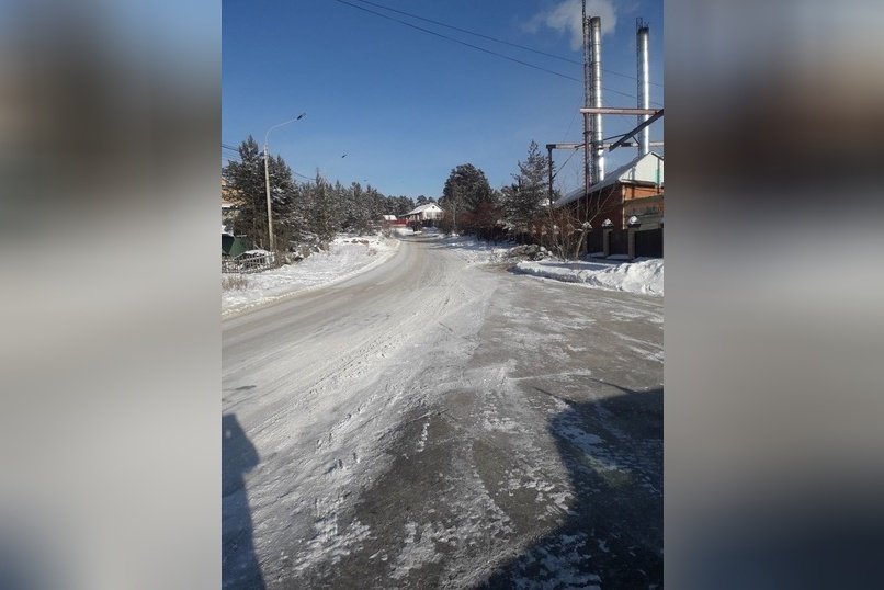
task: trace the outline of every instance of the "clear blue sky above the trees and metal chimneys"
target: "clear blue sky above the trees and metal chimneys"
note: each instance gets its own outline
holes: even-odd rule
[[[531,140],[580,141],[582,68],[385,11],[389,7],[571,60],[582,49],[569,26],[579,0],[345,0],[423,29],[546,68],[578,81],[465,47],[336,0],[224,0],[222,140],[238,146],[270,134],[270,151],[293,170],[330,181],[369,183],[387,195],[438,197],[451,169],[471,162],[500,188]],[[602,16],[605,106],[634,106],[635,19],[650,25],[651,102],[662,105],[660,0],[588,0]],[[612,22],[614,21],[614,22]],[[613,26],[612,26],[613,25]],[[654,105],[654,104],[653,104]],[[635,117],[605,116],[605,137]],[[651,127],[662,139],[662,122]],[[227,154],[225,150],[224,154]],[[345,158],[341,156],[347,155]],[[635,148],[608,156],[611,170]],[[556,151],[564,164],[571,151]],[[581,184],[581,152],[557,186]],[[303,179],[302,179],[303,180]]]

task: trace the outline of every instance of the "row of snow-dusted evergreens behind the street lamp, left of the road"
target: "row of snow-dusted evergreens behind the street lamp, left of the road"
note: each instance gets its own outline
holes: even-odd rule
[[[237,208],[231,230],[265,246],[269,240],[263,152],[251,136],[238,149],[239,160],[231,160],[222,169],[227,198]],[[331,184],[318,172],[313,181],[297,182],[280,156],[268,159],[268,173],[273,232],[281,249],[327,241],[339,231],[366,232],[377,226],[382,215],[403,215],[416,206],[410,197],[386,196],[359,182],[349,186],[340,182]],[[423,204],[431,200],[421,195],[417,201]]]

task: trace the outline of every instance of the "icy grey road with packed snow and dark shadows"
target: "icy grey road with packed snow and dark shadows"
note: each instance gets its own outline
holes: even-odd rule
[[[662,329],[417,237],[226,319],[224,587],[661,585]]]

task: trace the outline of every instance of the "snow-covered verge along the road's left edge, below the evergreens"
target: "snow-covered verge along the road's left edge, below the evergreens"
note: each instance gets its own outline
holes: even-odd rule
[[[295,264],[250,274],[223,274],[225,281],[240,281],[240,288],[222,291],[222,316],[317,288],[367,271],[389,259],[399,240],[382,236],[339,236],[327,251],[314,253]],[[245,283],[245,284],[242,284]]]

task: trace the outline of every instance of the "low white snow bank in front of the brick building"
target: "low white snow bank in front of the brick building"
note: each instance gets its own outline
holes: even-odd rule
[[[659,258],[621,264],[610,262],[540,261],[520,262],[515,265],[515,270],[534,276],[544,276],[568,283],[581,283],[598,288],[662,296],[662,259]]]

